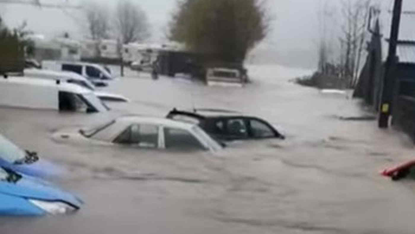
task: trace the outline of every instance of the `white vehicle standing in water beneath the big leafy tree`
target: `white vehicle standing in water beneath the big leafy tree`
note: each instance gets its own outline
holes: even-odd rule
[[[244,79],[239,70],[220,67],[207,69],[206,82],[208,86],[242,87],[244,85]]]

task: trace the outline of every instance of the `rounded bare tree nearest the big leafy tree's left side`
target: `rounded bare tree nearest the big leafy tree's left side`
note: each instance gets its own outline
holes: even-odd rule
[[[150,36],[146,13],[132,0],[118,2],[115,18],[123,44],[143,41]]]

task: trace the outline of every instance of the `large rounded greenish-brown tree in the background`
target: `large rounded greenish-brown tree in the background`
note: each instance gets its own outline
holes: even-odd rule
[[[266,36],[269,18],[260,0],[183,0],[173,14],[169,37],[217,62],[241,63]]]

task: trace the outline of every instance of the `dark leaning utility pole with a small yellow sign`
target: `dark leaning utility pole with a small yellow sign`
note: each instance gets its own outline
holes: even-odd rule
[[[389,116],[391,116],[391,106],[395,85],[395,67],[397,62],[396,45],[398,44],[400,14],[402,12],[402,0],[395,0],[393,5],[391,35],[389,37],[389,52],[385,64],[385,74],[383,77],[383,88],[381,106],[379,111],[379,128],[388,128]]]

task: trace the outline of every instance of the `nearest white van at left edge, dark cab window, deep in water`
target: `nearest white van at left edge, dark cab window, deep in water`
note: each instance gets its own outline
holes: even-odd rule
[[[109,110],[92,91],[81,86],[13,76],[0,77],[0,105],[86,113]]]

